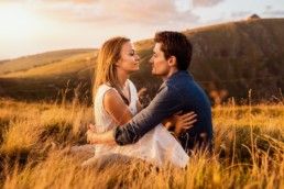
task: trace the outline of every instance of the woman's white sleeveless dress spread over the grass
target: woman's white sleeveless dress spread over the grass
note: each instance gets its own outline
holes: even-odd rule
[[[129,110],[134,115],[136,114],[136,88],[130,80],[128,82],[131,96]],[[116,126],[114,120],[103,108],[103,96],[108,90],[116,89],[101,85],[95,98],[95,120],[98,133],[107,132]],[[95,158],[109,154],[136,157],[159,165],[170,162],[179,167],[185,167],[189,159],[181,144],[162,124],[156,125],[134,144],[95,145]]]

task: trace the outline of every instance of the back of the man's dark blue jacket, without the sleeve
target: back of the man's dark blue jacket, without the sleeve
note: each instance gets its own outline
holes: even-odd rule
[[[187,71],[178,71],[166,80],[166,86],[176,88],[176,98],[182,104],[183,113],[194,111],[197,122],[178,136],[185,149],[193,149],[195,144],[210,143],[212,138],[211,108],[204,90],[194,81]]]

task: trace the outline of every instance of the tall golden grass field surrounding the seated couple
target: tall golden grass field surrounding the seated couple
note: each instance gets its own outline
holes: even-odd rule
[[[0,100],[0,188],[283,188],[284,107],[233,103],[212,109],[214,155],[187,169],[143,162],[81,167],[92,108]]]

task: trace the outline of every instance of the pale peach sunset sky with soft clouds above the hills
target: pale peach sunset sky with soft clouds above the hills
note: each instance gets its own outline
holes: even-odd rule
[[[284,0],[0,0],[0,60],[99,48],[117,35],[136,42],[253,13],[284,18]]]

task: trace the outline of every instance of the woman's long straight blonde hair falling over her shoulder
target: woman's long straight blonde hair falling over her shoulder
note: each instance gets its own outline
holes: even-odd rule
[[[95,103],[95,97],[100,85],[106,84],[117,89],[122,100],[129,104],[127,97],[122,93],[119,87],[119,80],[116,73],[116,63],[121,57],[121,48],[125,42],[130,42],[130,38],[117,36],[108,40],[103,43],[99,51],[97,68],[95,74],[95,84],[92,88],[92,100]]]

